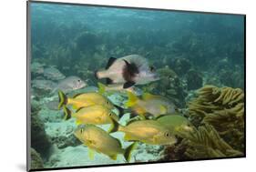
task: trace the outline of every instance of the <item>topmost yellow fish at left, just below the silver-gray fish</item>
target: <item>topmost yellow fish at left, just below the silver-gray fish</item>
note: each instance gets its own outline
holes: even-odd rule
[[[58,108],[62,106],[71,105],[74,109],[78,109],[84,106],[102,105],[110,109],[114,108],[113,104],[107,97],[100,95],[99,93],[83,93],[76,96],[67,97],[62,91],[58,91],[59,104]]]

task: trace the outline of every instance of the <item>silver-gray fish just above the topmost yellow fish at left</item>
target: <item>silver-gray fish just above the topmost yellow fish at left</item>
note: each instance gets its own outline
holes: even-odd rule
[[[65,79],[58,82],[54,91],[60,89],[64,93],[67,93],[69,91],[77,90],[85,86],[87,86],[87,83],[83,81],[80,77],[68,76]]]

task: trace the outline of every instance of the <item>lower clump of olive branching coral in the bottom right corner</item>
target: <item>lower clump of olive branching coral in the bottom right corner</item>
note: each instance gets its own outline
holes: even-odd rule
[[[225,142],[213,126],[199,126],[193,132],[181,133],[186,145],[185,155],[189,158],[239,157],[243,153],[233,149]]]

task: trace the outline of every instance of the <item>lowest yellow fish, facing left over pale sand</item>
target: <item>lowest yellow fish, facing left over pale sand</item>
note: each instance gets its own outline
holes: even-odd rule
[[[118,154],[129,162],[132,151],[136,148],[136,142],[127,148],[122,148],[120,141],[110,136],[105,130],[94,125],[78,126],[75,136],[89,148],[89,157],[93,158],[93,150],[107,155],[116,160]]]

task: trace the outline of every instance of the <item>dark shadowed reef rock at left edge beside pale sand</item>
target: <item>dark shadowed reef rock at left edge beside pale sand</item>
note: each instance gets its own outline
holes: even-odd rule
[[[38,116],[39,111],[40,106],[33,100],[31,107],[31,147],[35,148],[41,156],[47,157],[51,142],[46,135],[45,124]]]

